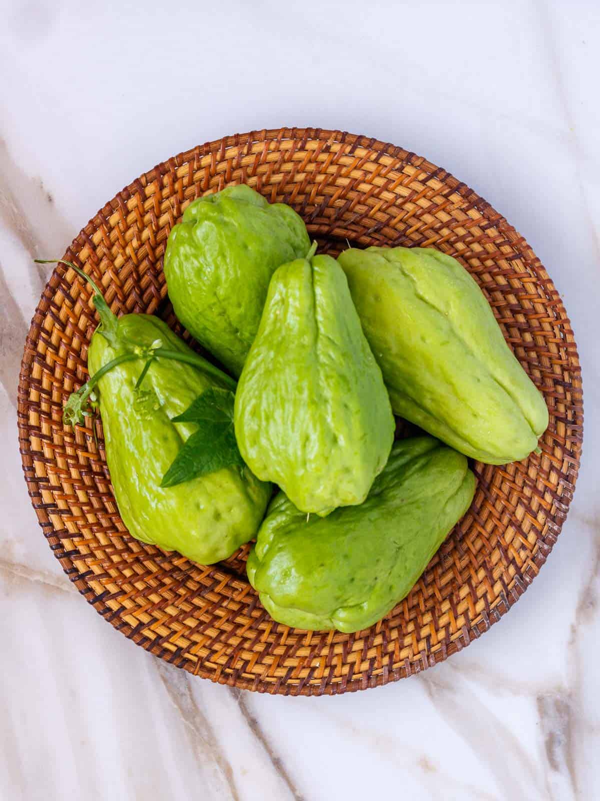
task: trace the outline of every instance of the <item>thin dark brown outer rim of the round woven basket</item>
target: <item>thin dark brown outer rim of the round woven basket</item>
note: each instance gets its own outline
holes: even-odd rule
[[[446,171],[441,167],[437,167],[434,163],[430,162],[428,159],[425,159],[422,156],[414,154],[412,151],[406,151],[402,147],[397,147],[391,143],[382,142],[379,139],[375,139],[373,137],[367,137],[365,135],[358,135],[358,134],[350,134],[347,131],[337,131],[333,129],[326,129],[326,128],[311,128],[311,127],[281,127],[281,128],[268,128],[256,131],[248,131],[244,134],[234,134],[229,136],[224,136],[221,139],[214,139],[213,141],[207,142],[203,145],[198,145],[196,147],[190,148],[189,150],[182,151],[178,153],[178,155],[171,156],[169,159],[166,159],[163,162],[156,164],[152,167],[149,171],[142,173],[142,175],[138,176],[137,179],[132,181],[126,187],[124,187],[121,191],[119,191],[113,199],[105,203],[105,205],[98,210],[98,212],[90,218],[88,223],[84,227],[82,227],[81,231],[78,233],[77,236],[74,237],[70,246],[66,249],[66,252],[63,259],[69,259],[70,254],[78,254],[81,250],[86,247],[86,239],[90,235],[92,231],[95,231],[98,227],[98,223],[102,219],[103,216],[106,214],[113,214],[114,211],[117,210],[118,207],[122,207],[123,203],[126,203],[127,199],[134,193],[134,191],[138,191],[140,185],[144,186],[155,179],[161,178],[167,172],[171,171],[173,167],[179,167],[184,163],[190,162],[192,159],[198,159],[198,157],[203,157],[206,155],[212,155],[214,159],[222,159],[225,155],[226,148],[228,147],[240,147],[245,144],[256,144],[264,141],[279,141],[282,140],[299,140],[298,147],[306,147],[306,143],[317,140],[318,142],[324,143],[324,146],[327,147],[329,143],[350,143],[352,145],[352,151],[355,148],[361,147],[367,150],[378,151],[378,159],[381,158],[383,155],[390,156],[391,158],[398,158],[402,157],[403,159],[407,160],[408,163],[412,164],[415,167],[421,167],[426,165],[426,167],[432,168],[436,171],[436,174],[442,175],[442,179],[444,183],[447,183],[450,187],[453,188],[454,191],[458,192],[458,194],[462,195],[464,199],[468,199],[471,203],[473,203],[474,207],[478,210],[478,212],[486,218],[488,221],[494,221],[494,225],[498,226],[498,223],[504,223],[502,231],[506,232],[507,235],[516,235],[518,239],[522,241],[522,247],[524,249],[530,250],[533,253],[533,250],[530,248],[530,245],[526,241],[522,235],[518,234],[518,232],[510,225],[510,223],[506,222],[506,219],[503,215],[499,214],[498,211],[494,209],[485,199],[482,198],[481,195],[478,195],[473,189],[468,187],[466,183],[463,183],[456,179],[454,175]],[[357,240],[358,241],[358,240]],[[540,267],[545,270],[543,264],[540,263]],[[547,273],[546,273],[547,274]],[[33,351],[35,349],[35,344],[38,340],[38,329],[35,328],[35,320],[38,316],[46,315],[47,312],[47,304],[51,300],[52,296],[54,295],[54,288],[51,284],[53,282],[59,280],[62,277],[62,269],[61,265],[57,264],[56,268],[54,268],[54,272],[50,275],[46,287],[42,292],[42,296],[38,301],[38,304],[35,308],[34,316],[32,317],[30,329],[26,336],[26,343],[23,350],[23,356],[21,361],[21,368],[19,372],[19,380],[18,380],[18,437],[19,437],[19,445],[22,445],[22,441],[28,439],[28,432],[26,425],[23,421],[22,416],[22,404],[26,400],[26,388],[28,381],[30,379],[30,366],[34,360]],[[554,281],[550,279],[550,284],[554,287]],[[558,292],[557,292],[558,295]],[[563,323],[570,328],[570,332],[574,336],[573,326],[570,322],[570,317],[566,313],[566,308],[562,303],[562,297],[558,295],[558,312],[562,312],[561,319]],[[35,338],[34,338],[35,337]],[[581,438],[579,440],[579,449],[577,453],[577,458],[574,460],[574,463],[571,465],[570,471],[570,493],[566,495],[564,502],[562,502],[562,519],[553,521],[553,529],[552,532],[554,534],[554,541],[558,538],[558,535],[562,531],[562,526],[566,521],[566,514],[568,509],[570,508],[570,502],[572,501],[577,477],[578,477],[578,469],[581,461],[582,455],[582,445],[583,445],[583,387],[582,387],[582,368],[578,358],[578,351],[576,347],[576,343],[574,341],[574,347],[570,349],[570,367],[575,371],[578,372],[578,400],[574,403],[574,408],[576,409],[577,421],[581,427]],[[35,478],[31,478],[28,474],[28,465],[26,461],[29,455],[20,447],[20,453],[22,458],[22,469],[24,471],[24,477],[27,485],[27,489],[29,490],[30,497],[34,496],[36,493],[39,493],[39,483]],[[101,600],[98,600],[98,597],[94,596],[94,590],[90,587],[89,583],[86,581],[86,578],[82,578],[82,576],[86,574],[81,574],[76,566],[74,566],[74,562],[72,561],[71,557],[68,555],[64,547],[62,546],[62,542],[58,539],[58,537],[54,536],[54,525],[51,521],[44,522],[42,521],[42,515],[39,513],[38,509],[35,507],[34,500],[32,497],[32,504],[34,505],[34,509],[36,511],[36,515],[38,517],[38,523],[42,528],[42,532],[46,541],[50,545],[50,549],[54,553],[54,557],[58,559],[62,566],[62,570],[65,572],[66,576],[69,578],[69,581],[74,584],[77,588],[78,592],[82,594],[86,601],[90,603],[91,606],[94,606],[94,609],[98,612],[98,614],[102,615],[103,618],[108,620],[111,625],[117,629],[118,631],[125,634],[128,639],[133,639],[136,645],[141,645],[144,650],[150,652],[154,656],[158,656],[158,658],[162,658],[166,662],[170,664],[174,664],[175,666],[181,667],[186,669],[186,664],[182,660],[178,660],[176,658],[176,654],[172,651],[158,646],[155,642],[150,641],[146,638],[145,641],[142,641],[141,638],[136,636],[136,631],[134,630],[134,626],[131,626],[129,623],[126,623],[118,616],[114,616],[112,614],[112,610],[110,610],[109,606],[106,606]],[[53,541],[54,540],[54,541]],[[538,568],[541,568],[545,563],[548,555],[550,554],[553,546],[554,541],[551,541],[550,544],[546,544],[544,549],[539,549],[538,553],[536,554],[536,565]],[[191,563],[194,565],[194,563]],[[214,565],[211,566],[214,570],[215,574],[220,574],[222,578],[225,578],[228,574],[222,570],[221,565]],[[526,591],[526,589],[530,586],[530,583],[533,581],[533,577],[528,577],[527,575],[524,576],[525,581],[520,582],[519,584],[515,585],[513,590],[507,595],[506,603],[504,605],[498,605],[498,608],[495,610],[495,614],[491,615],[490,618],[486,621],[486,625],[482,627],[481,630],[478,629],[478,626],[475,625],[473,622],[469,622],[468,626],[465,626],[465,631],[463,632],[465,642],[463,644],[459,644],[458,641],[451,642],[450,645],[444,650],[444,652],[436,651],[433,654],[430,654],[430,658],[427,659],[426,655],[423,655],[423,664],[422,667],[415,666],[412,674],[421,672],[422,670],[426,670],[430,666],[434,666],[439,664],[440,662],[446,661],[448,657],[452,654],[456,653],[458,650],[462,650],[463,647],[470,644],[473,638],[479,638],[481,634],[484,634],[487,630],[490,629],[491,626],[494,625],[500,618],[502,618],[508,610],[518,601],[518,599],[522,596],[522,594]],[[471,636],[472,635],[472,636]],[[343,688],[343,690],[338,691],[336,689],[336,685],[332,683],[327,683],[326,687],[322,691],[315,691],[318,690],[318,687],[314,687],[312,685],[294,685],[294,686],[287,686],[286,689],[277,689],[275,683],[266,683],[262,682],[257,687],[255,682],[252,682],[250,678],[244,678],[241,676],[234,677],[233,674],[228,674],[226,672],[222,672],[217,678],[214,677],[212,673],[208,670],[205,670],[204,667],[201,665],[198,670],[194,670],[194,674],[200,676],[201,678],[210,678],[212,682],[217,682],[219,684],[224,684],[226,686],[238,687],[244,690],[254,690],[260,693],[266,694],[286,694],[289,696],[317,696],[320,697],[322,694],[343,694],[344,692],[356,692],[358,690],[365,690],[370,689],[375,686],[384,686],[388,683],[397,682],[401,678],[408,678],[408,676],[403,675],[394,675],[388,674],[376,674],[375,676],[371,676],[368,682],[362,682],[359,679],[352,679],[351,682]]]

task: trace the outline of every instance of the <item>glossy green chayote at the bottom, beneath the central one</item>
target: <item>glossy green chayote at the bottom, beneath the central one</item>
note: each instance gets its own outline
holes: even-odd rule
[[[433,437],[394,444],[360,506],[309,517],[271,502],[247,562],[272,618],[298,629],[366,629],[410,592],[469,508],[466,457]]]

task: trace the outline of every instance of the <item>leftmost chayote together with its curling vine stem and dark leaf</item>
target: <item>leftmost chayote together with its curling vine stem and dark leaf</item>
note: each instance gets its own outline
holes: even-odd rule
[[[63,263],[94,288],[101,320],[88,349],[90,379],[69,396],[63,421],[82,423],[99,390],[106,463],[130,533],[202,564],[230,556],[255,536],[270,497],[270,485],[232,449],[234,380],[158,317],[117,320],[90,276]],[[182,413],[186,421],[173,420]]]

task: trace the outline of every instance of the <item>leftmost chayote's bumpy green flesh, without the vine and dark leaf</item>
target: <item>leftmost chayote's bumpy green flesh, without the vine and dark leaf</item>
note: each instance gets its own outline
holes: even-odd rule
[[[110,344],[102,328],[94,332],[90,375],[132,347],[150,352],[159,344],[191,356],[198,365],[158,357],[135,388],[145,364],[136,359],[118,364],[98,381],[106,462],[121,517],[138,540],[178,550],[194,562],[218,562],[256,535],[270,485],[246,467],[221,469],[173,487],[161,487],[161,481],[198,427],[171,418],[206,389],[228,384],[157,317],[127,314],[114,320],[112,333]]]

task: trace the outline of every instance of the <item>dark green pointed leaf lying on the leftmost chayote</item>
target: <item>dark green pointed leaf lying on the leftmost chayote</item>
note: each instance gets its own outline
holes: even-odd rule
[[[196,423],[198,431],[183,444],[162,477],[162,487],[174,487],[231,465],[243,466],[235,441],[233,392],[207,389],[171,422]]]

